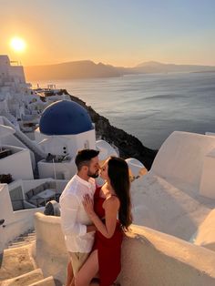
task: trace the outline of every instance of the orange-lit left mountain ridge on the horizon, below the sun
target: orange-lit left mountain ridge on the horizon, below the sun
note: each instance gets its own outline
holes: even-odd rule
[[[89,60],[48,66],[25,66],[24,69],[27,80],[120,76],[116,67],[102,63],[95,64]]]

